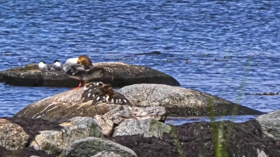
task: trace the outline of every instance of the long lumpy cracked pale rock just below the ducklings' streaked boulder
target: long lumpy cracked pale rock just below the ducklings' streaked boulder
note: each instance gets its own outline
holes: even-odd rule
[[[113,120],[115,124],[119,124],[126,119],[155,119],[161,122],[165,121],[167,111],[164,107],[130,107],[118,106],[105,113],[103,117]]]

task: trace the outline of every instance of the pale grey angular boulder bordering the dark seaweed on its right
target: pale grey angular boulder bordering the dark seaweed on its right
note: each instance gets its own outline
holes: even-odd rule
[[[143,134],[144,137],[161,137],[164,132],[171,131],[170,125],[154,119],[127,119],[115,128],[113,136]]]

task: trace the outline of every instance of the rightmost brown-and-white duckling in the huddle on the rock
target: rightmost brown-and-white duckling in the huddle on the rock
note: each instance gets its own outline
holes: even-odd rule
[[[120,105],[129,105],[132,106],[132,104],[122,95],[116,94],[114,95],[113,92],[110,90],[105,90],[104,93],[106,93],[106,102],[108,104],[120,104]]]

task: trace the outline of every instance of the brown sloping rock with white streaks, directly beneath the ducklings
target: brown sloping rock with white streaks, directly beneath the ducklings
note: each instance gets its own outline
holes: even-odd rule
[[[101,103],[92,106],[92,101],[80,103],[82,88],[69,90],[30,104],[13,117],[41,118],[62,123],[72,117],[104,115],[120,105]],[[56,102],[57,101],[57,102]]]

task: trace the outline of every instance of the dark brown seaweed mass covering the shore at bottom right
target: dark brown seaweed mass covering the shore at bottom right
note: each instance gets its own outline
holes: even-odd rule
[[[230,136],[229,127],[233,127]],[[177,143],[181,145],[179,149],[183,153],[181,156],[215,156],[217,145],[220,145],[219,151],[223,157],[258,156],[262,153],[267,156],[280,156],[280,141],[265,137],[257,120],[242,123],[219,121],[213,122],[212,125],[205,121],[192,122],[176,126],[175,130],[178,136]],[[217,143],[221,135],[223,140]],[[132,149],[137,156],[180,156],[175,139],[167,133],[161,138],[132,135],[107,139]]]

